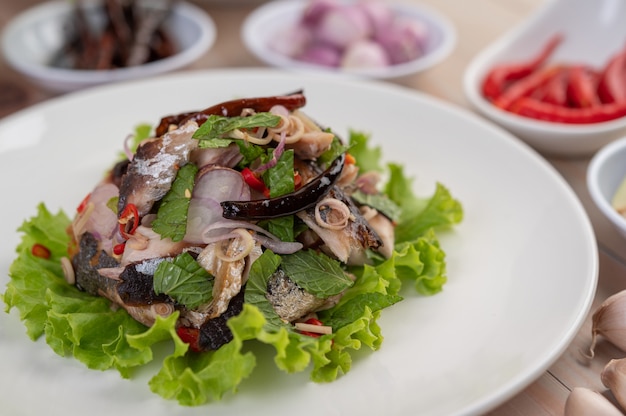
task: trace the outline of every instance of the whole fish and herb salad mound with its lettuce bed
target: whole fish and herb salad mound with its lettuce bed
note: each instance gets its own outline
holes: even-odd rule
[[[194,406],[235,392],[273,347],[329,382],[377,350],[402,284],[442,290],[435,230],[463,216],[420,197],[367,134],[344,142],[302,93],[245,98],[139,126],[70,218],[42,203],[19,231],[3,295],[28,335],[123,377],[171,353],[150,389]]]

